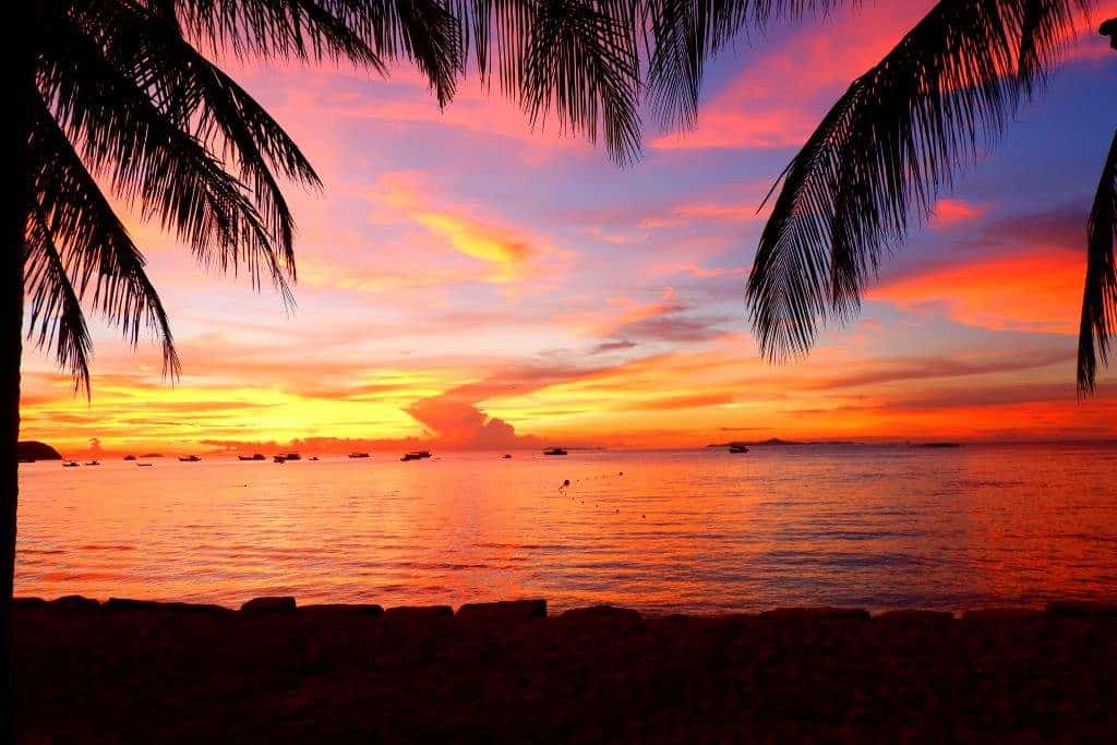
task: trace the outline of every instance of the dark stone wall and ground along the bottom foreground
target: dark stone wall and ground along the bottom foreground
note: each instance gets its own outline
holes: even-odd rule
[[[1090,743],[1117,732],[1117,615],[1102,606],[966,619],[284,606],[17,604],[19,739]]]

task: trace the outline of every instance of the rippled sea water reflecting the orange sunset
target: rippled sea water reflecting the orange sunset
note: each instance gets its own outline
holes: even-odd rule
[[[1117,599],[1114,447],[153,462],[22,466],[17,594],[649,612]]]

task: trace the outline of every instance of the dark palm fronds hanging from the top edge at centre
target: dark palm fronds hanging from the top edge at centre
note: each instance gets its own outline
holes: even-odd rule
[[[840,4],[840,0],[445,1],[458,20],[464,69],[476,67],[486,84],[497,79],[503,93],[519,101],[534,122],[553,115],[562,128],[591,141],[602,133],[610,157],[620,163],[639,155],[641,97],[647,96],[652,116],[662,125],[689,126],[706,61],[738,31]]]

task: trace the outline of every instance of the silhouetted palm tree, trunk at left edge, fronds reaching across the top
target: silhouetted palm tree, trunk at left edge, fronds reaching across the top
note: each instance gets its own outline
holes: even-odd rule
[[[821,2],[821,0],[820,0]],[[641,95],[694,121],[705,60],[746,22],[808,0],[52,0],[9,35],[9,249],[0,267],[0,647],[8,684],[25,326],[89,392],[86,309],[136,345],[150,332],[180,367],[144,258],[115,195],[197,258],[270,283],[295,279],[280,181],[321,187],[281,126],[204,50],[237,58],[413,64],[440,106],[476,75],[619,163],[640,147]],[[825,4],[822,2],[821,4]],[[26,315],[25,315],[26,309]],[[0,690],[4,704],[10,690]],[[3,717],[11,722],[10,717]]]

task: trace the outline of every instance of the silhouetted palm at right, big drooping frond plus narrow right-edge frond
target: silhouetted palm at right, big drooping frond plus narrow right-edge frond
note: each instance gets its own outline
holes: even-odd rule
[[[781,175],[746,289],[762,354],[805,354],[827,317],[859,311],[881,258],[1040,92],[1092,4],[941,0],[853,80]],[[1117,48],[1117,19],[1101,31]],[[1115,180],[1117,136],[1089,218],[1079,395],[1117,333]]]

